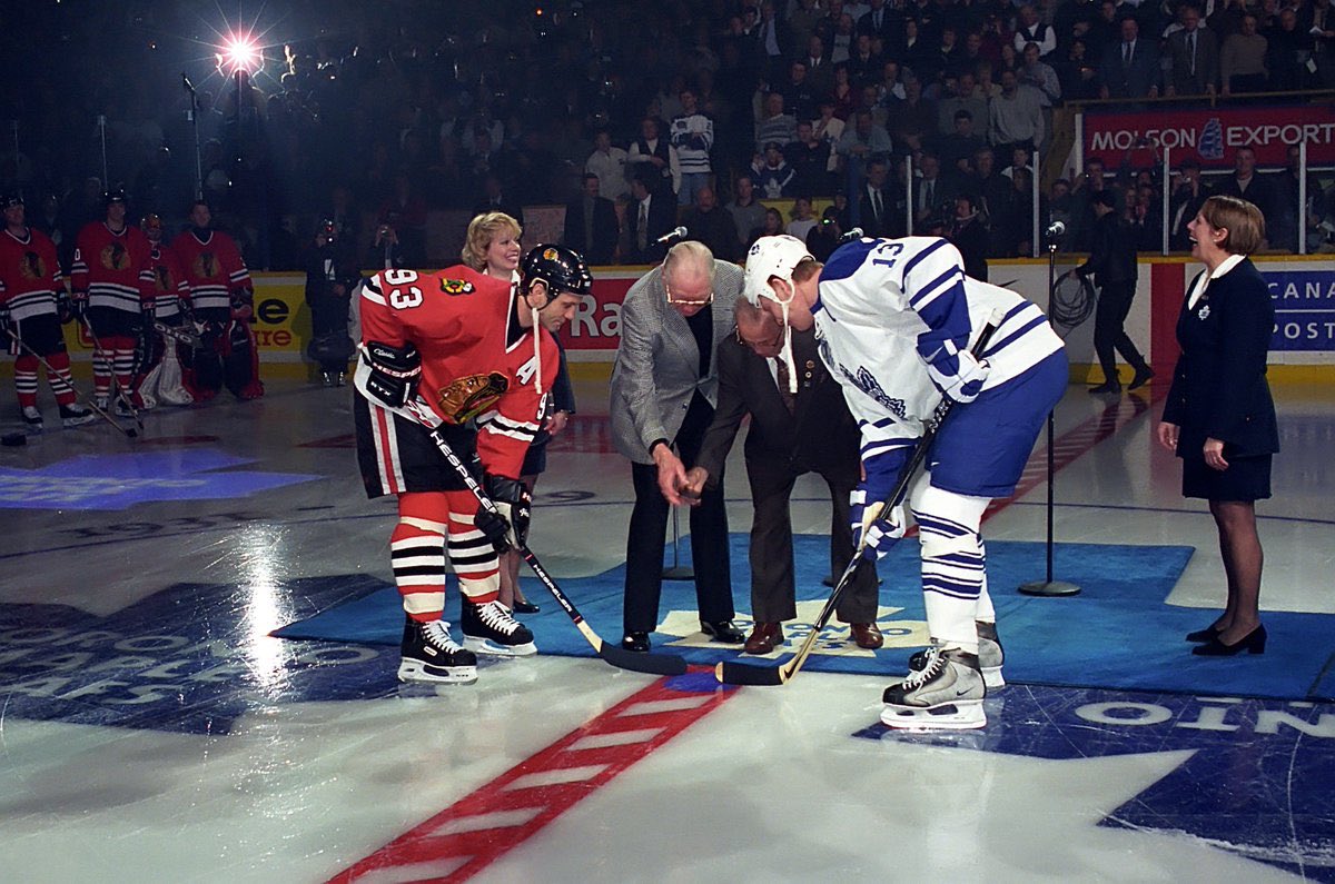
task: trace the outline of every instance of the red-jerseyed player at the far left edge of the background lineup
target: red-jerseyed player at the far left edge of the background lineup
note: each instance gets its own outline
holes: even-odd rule
[[[29,430],[41,430],[37,410],[37,367],[47,361],[47,383],[60,405],[65,426],[95,421],[96,415],[79,405],[69,378],[69,354],[60,331],[60,314],[69,312],[65,283],[56,259],[56,244],[40,230],[28,227],[23,198],[0,196],[4,232],[0,234],[0,341],[15,354],[13,386],[19,410]],[[17,335],[20,347],[9,335]]]

